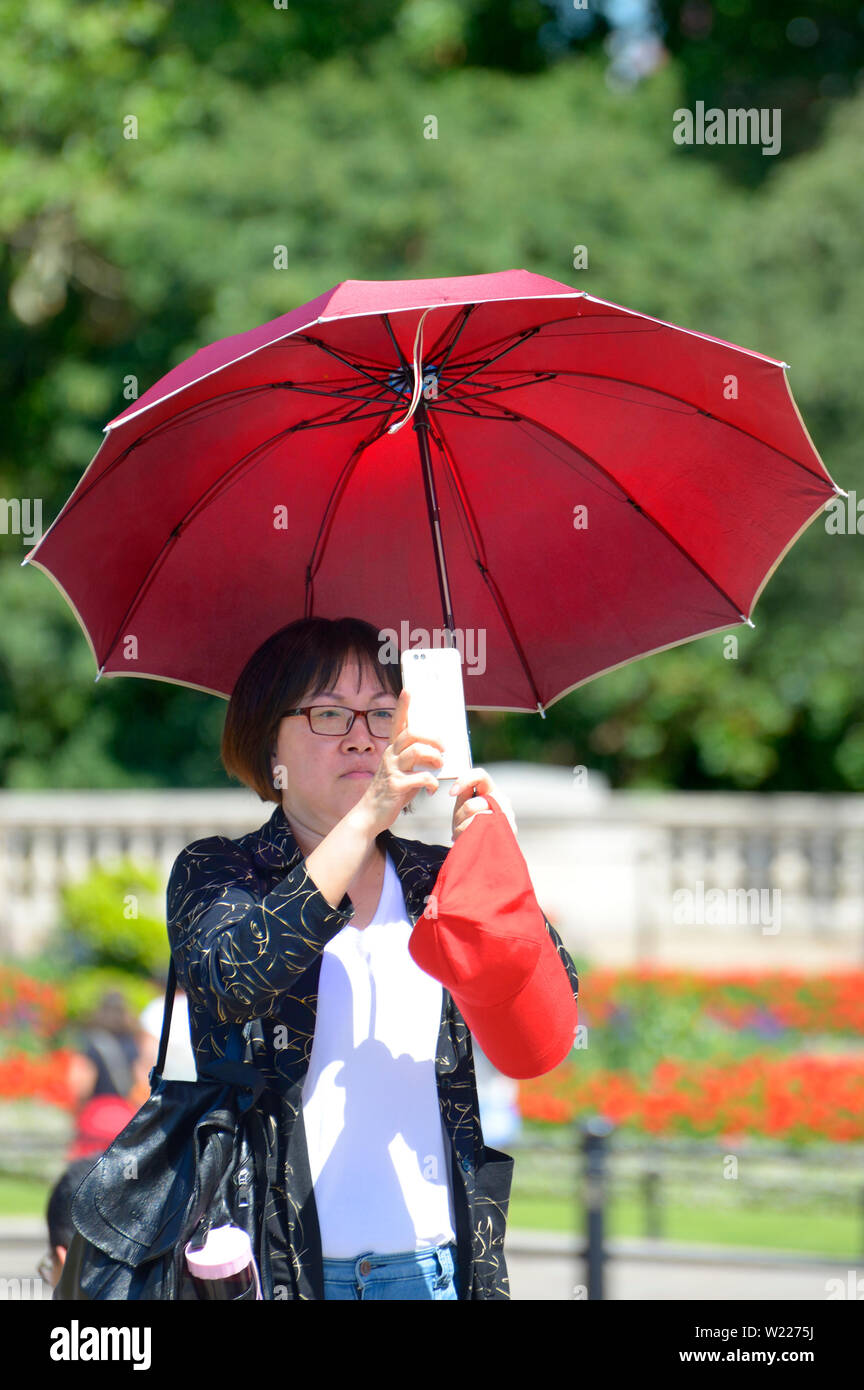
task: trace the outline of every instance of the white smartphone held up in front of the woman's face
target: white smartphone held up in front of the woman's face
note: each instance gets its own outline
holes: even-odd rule
[[[411,771],[435,773],[439,781],[464,776],[474,764],[458,646],[410,646],[400,663],[401,684],[411,696],[408,728],[421,739],[436,738],[445,745],[440,767],[421,763]]]

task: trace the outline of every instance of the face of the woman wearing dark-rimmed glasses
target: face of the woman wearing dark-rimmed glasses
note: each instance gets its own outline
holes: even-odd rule
[[[378,674],[346,657],[329,691],[304,695],[299,705],[394,709],[397,696]],[[304,714],[285,717],[276,734],[271,774],[279,770],[285,815],[299,827],[326,835],[356,806],[369,785],[390,735],[369,734],[357,716],[343,737],[314,734]],[[304,849],[303,845],[300,845]]]

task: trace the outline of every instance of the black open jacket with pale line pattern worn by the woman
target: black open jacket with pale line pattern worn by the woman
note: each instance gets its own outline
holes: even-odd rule
[[[393,860],[413,924],[426,906],[449,847],[376,837]],[[189,1001],[196,1062],[225,1055],[231,1020],[258,1019],[253,1061],[279,1091],[283,1133],[272,1123],[285,1186],[274,1201],[279,1238],[271,1237],[288,1298],[324,1298],[321,1237],[303,1125],[306,1077],[318,1002],[321,952],[351,919],[346,894],[335,909],[306,872],[306,860],[282,806],[260,830],[229,840],[196,840],[178,855],[167,892],[168,937],[179,986]],[[546,922],[574,995],[579,981],[554,927]],[[443,1006],[435,1056],[438,1097],[451,1148],[451,1191],[461,1298],[510,1298],[504,1227],[513,1158],[483,1143],[471,1033],[450,992]],[[258,1104],[267,1097],[263,1093]],[[278,1283],[279,1272],[274,1276]]]

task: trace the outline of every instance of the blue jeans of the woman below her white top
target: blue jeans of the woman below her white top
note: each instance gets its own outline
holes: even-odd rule
[[[456,1245],[432,1245],[393,1255],[367,1251],[346,1259],[324,1261],[328,1300],[458,1298]]]

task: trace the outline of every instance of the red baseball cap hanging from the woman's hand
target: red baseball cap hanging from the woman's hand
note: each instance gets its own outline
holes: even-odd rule
[[[408,940],[504,1076],[543,1076],[574,1044],[576,1001],[513,827],[488,792],[439,869]]]

